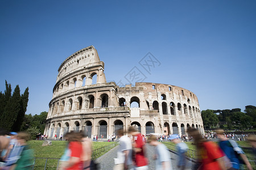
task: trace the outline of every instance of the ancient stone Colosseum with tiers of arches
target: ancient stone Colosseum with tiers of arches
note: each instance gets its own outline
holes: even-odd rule
[[[58,71],[44,130],[48,137],[84,130],[88,137],[106,138],[129,125],[142,134],[185,134],[189,126],[204,132],[193,92],[169,84],[106,82],[94,46],[69,56]]]

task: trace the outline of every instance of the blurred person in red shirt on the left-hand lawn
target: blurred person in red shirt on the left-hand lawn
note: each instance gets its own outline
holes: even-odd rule
[[[80,170],[83,169],[82,156],[82,144],[81,135],[76,132],[72,132],[68,137],[69,145],[68,149],[71,151],[70,159],[65,170]]]

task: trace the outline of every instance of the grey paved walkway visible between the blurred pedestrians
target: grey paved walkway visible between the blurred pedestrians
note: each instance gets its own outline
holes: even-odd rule
[[[102,155],[100,158],[96,159],[97,163],[100,163],[100,169],[104,170],[112,170],[114,167],[114,158],[117,158],[117,149],[118,146],[112,148],[109,152]],[[147,145],[147,158],[148,158],[148,169],[154,170],[154,160],[152,159],[152,156],[154,155],[155,148],[153,146]],[[172,160],[172,169],[177,169],[177,155],[170,152],[171,154],[171,160]],[[188,161],[187,169],[192,168],[193,163]]]

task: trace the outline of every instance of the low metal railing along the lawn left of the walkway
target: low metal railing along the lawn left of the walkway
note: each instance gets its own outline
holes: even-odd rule
[[[104,147],[101,147],[101,148],[97,148],[96,150],[93,150],[92,151],[92,160],[95,160],[95,159],[99,158],[101,155],[104,155],[105,152],[109,151],[110,149],[112,149],[113,147],[115,147],[117,145],[119,145],[119,142],[115,142],[115,143],[112,143],[108,146],[104,146]],[[34,159],[34,162],[31,166],[32,170],[33,169],[39,169],[39,168],[40,169],[44,168],[44,170],[46,170],[46,169],[55,169],[55,168],[58,169],[59,168],[60,158],[33,158],[33,159]],[[46,159],[46,162],[44,162],[43,159]],[[38,165],[39,163],[38,164],[36,163],[36,160],[39,160],[39,162],[40,162],[40,160],[42,160],[40,162],[40,165]],[[55,163],[51,164],[51,163],[49,163],[49,160],[53,160],[53,162],[55,160]],[[56,164],[57,164],[57,166],[56,166]]]

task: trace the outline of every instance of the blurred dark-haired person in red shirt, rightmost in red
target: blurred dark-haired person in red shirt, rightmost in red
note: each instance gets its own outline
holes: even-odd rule
[[[226,169],[224,164],[224,154],[220,151],[218,145],[214,142],[205,141],[199,131],[195,128],[189,128],[188,134],[193,137],[197,151],[199,152],[198,169],[200,170],[222,170]]]

